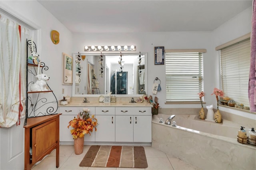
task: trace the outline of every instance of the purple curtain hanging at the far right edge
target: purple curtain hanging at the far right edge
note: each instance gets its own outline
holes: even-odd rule
[[[251,59],[248,97],[250,111],[256,112],[256,0],[252,1]]]

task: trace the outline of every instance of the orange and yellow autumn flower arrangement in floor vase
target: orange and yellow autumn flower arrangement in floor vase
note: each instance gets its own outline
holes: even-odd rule
[[[95,128],[95,131],[97,130],[96,126],[98,125],[98,121],[94,118],[94,115],[90,118],[89,111],[90,109],[84,108],[83,112],[78,113],[77,118],[74,117],[74,119],[68,123],[68,128],[70,126],[73,128],[70,130],[73,139],[83,138],[85,134],[93,132],[93,128]]]

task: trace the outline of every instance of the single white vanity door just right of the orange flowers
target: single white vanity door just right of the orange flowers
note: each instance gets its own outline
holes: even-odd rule
[[[96,142],[114,142],[115,141],[115,116],[114,115],[96,115],[98,120],[97,131],[95,132]]]

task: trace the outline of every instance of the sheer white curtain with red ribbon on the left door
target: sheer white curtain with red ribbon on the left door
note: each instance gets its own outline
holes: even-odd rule
[[[0,19],[0,126],[11,127],[25,117],[28,30],[4,16]]]

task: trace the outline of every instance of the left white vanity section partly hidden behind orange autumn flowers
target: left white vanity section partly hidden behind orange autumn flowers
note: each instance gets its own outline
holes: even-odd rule
[[[77,117],[78,113],[83,111],[83,108],[90,109],[89,115],[95,115],[95,107],[59,107],[60,112],[60,143],[62,142],[73,142],[73,136],[70,133],[72,127],[68,128],[68,123]],[[95,130],[84,136],[84,141],[94,142],[95,141]]]

